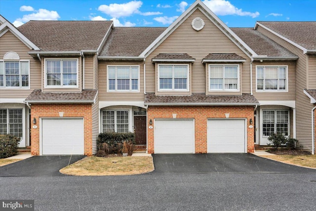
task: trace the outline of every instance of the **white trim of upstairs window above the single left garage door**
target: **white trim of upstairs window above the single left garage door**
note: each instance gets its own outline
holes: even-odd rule
[[[61,69],[61,79],[60,79],[60,85],[47,85],[47,71],[46,71],[46,61],[60,61],[62,65],[62,61],[65,60],[72,60],[72,61],[77,61],[77,85],[63,85],[63,70]],[[61,66],[62,68],[62,66]],[[44,59],[44,87],[45,88],[78,88],[79,87],[79,59],[77,58],[63,58],[63,59],[58,59],[58,58],[45,58]]]

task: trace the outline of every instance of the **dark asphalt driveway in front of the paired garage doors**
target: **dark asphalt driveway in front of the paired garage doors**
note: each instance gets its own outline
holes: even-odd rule
[[[157,154],[151,173],[316,173],[252,154]]]

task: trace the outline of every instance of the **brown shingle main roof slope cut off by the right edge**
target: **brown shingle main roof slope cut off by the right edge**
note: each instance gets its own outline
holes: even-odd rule
[[[258,22],[306,49],[316,50],[316,21]]]

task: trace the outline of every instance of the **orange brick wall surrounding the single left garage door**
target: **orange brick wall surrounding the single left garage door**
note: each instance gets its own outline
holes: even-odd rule
[[[31,105],[31,153],[40,155],[40,118],[81,117],[84,122],[84,155],[92,155],[92,105],[91,104],[32,104]],[[36,118],[36,129],[33,128],[33,118]]]

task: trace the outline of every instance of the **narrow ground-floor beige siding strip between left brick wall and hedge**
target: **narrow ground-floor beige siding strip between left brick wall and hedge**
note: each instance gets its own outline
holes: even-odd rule
[[[97,94],[95,103],[92,104],[92,154],[96,154],[98,150],[99,116],[99,99]]]

